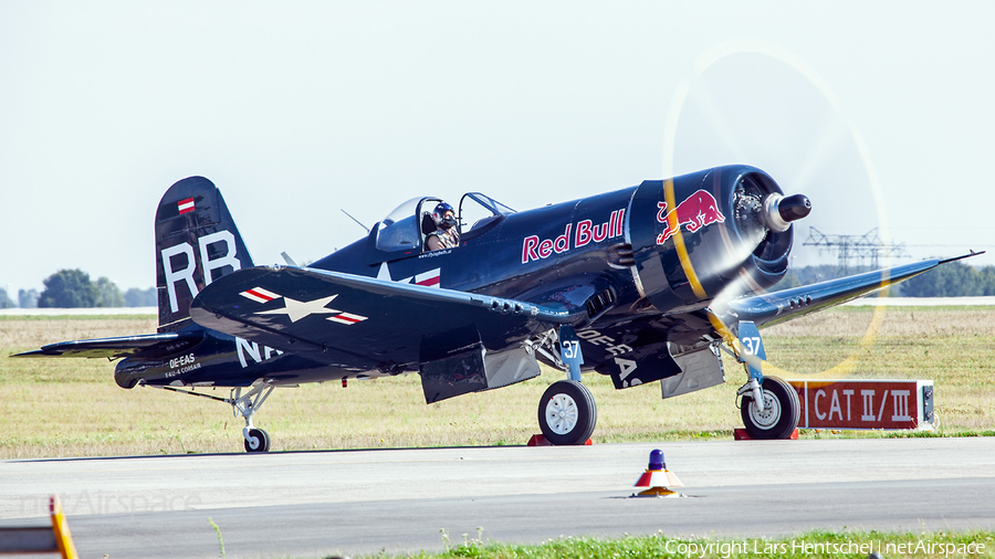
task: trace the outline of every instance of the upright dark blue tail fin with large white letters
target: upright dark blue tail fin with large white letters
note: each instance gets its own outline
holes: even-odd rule
[[[252,266],[221,191],[203,177],[169,187],[156,211],[159,331],[182,327],[190,302],[214,280]]]

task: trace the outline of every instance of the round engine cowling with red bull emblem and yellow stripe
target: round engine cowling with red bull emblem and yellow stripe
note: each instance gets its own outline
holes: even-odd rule
[[[792,222],[810,210],[755,167],[646,181],[628,220],[637,284],[662,313],[701,308],[724,289],[760,293],[784,277]]]

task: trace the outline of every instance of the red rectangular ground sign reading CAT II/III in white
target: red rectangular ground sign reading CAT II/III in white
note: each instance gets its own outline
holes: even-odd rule
[[[932,429],[932,380],[788,380],[799,428]]]

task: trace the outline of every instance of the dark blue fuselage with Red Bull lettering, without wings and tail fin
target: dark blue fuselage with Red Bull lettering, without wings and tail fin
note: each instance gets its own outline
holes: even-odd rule
[[[714,334],[703,309],[725,285],[746,282],[756,292],[779,280],[790,231],[766,234],[757,245],[744,232],[753,218],[741,209],[752,192],[762,199],[775,191],[762,171],[734,166],[524,212],[475,194],[493,202],[483,204],[490,213],[473,222],[460,215],[459,246],[436,252],[422,244],[432,225],[426,204],[437,199],[412,199],[365,239],[308,267],[566,309],[578,317],[577,330],[593,333],[593,339],[582,335],[585,356],[591,357],[585,368],[606,372],[618,351],[635,344],[659,352],[666,341],[694,344]],[[411,328],[430,330],[432,317],[423,319]],[[418,370],[417,362],[385,370],[369,356],[347,351],[315,362],[294,356],[290,346],[258,347],[192,323],[182,328],[205,331],[190,351],[199,369],[180,365],[177,372],[176,356],[126,359],[118,366],[118,383],[292,384]]]

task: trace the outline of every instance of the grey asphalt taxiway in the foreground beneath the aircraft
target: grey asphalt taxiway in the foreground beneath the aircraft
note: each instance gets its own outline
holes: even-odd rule
[[[656,447],[684,497],[629,498]],[[995,530],[995,439],[0,462],[0,524],[44,525],[52,493],[81,556],[98,558],[219,557],[210,521],[228,557],[441,550],[441,530],[454,544],[659,531]]]

